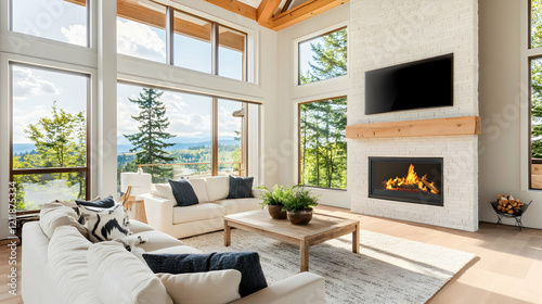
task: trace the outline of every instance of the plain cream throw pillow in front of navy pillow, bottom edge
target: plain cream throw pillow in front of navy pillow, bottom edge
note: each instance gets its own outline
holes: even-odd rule
[[[222,304],[241,299],[238,270],[195,274],[157,274],[175,304]]]

